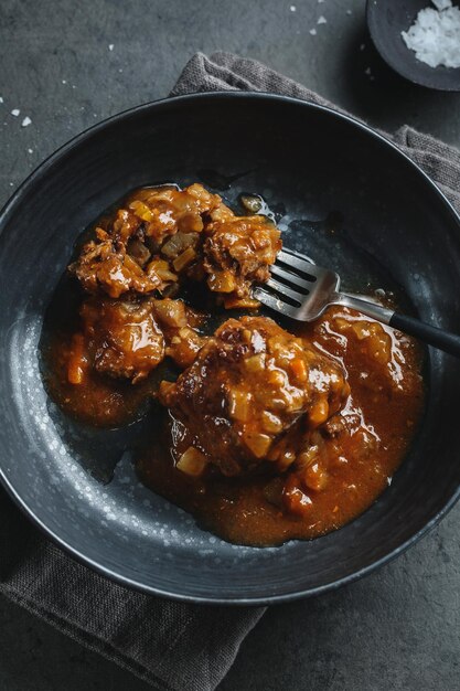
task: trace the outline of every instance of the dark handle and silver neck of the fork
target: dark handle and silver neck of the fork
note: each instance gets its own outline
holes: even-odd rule
[[[438,329],[438,327],[431,327],[419,319],[415,319],[415,317],[398,315],[374,301],[363,299],[361,296],[355,297],[354,295],[342,293],[339,296],[338,302],[356,309],[367,315],[367,317],[373,317],[377,321],[382,321],[394,329],[398,329],[398,331],[415,336],[429,346],[434,346],[451,355],[460,358],[460,336],[456,333],[449,333],[449,331],[443,331],[443,329]]]

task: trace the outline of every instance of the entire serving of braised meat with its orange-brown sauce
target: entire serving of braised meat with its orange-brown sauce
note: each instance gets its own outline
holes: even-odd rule
[[[142,481],[231,542],[311,539],[363,512],[421,414],[415,341],[340,307],[284,329],[254,317],[250,284],[269,275],[279,233],[200,185],[141,190],[125,205],[71,265],[81,293],[60,296],[43,341],[52,398],[99,427],[143,416]],[[184,285],[221,305],[216,332],[176,299]]]

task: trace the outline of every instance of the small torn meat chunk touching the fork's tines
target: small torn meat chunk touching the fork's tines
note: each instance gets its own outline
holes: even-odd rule
[[[211,290],[225,295],[224,305],[255,307],[250,299],[254,283],[270,277],[270,266],[281,249],[280,232],[265,216],[212,214],[206,225],[203,266]]]

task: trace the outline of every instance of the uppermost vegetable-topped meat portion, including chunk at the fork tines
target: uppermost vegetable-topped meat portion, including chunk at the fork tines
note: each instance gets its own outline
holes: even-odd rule
[[[201,184],[145,188],[100,221],[68,269],[92,295],[163,294],[207,278],[226,307],[257,307],[252,284],[268,279],[280,247],[267,219],[235,216]]]

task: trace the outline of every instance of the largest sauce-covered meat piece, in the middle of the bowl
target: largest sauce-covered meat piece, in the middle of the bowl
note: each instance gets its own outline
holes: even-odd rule
[[[282,467],[282,435],[301,416],[308,428],[323,424],[349,391],[334,360],[271,319],[243,317],[222,325],[175,383],[162,382],[160,401],[191,434],[194,465],[200,456],[237,476],[265,460]]]

